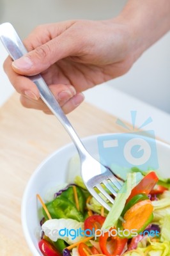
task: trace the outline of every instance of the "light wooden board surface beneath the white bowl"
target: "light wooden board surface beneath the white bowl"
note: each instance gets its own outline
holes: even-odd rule
[[[68,118],[80,137],[125,132],[117,118],[87,103]],[[29,256],[20,221],[24,189],[36,166],[70,137],[54,116],[23,108],[17,93],[0,109],[0,131],[0,255]]]

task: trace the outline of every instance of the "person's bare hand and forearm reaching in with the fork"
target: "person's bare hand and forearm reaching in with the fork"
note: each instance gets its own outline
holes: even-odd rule
[[[39,26],[24,41],[29,51],[35,49],[27,54],[27,60],[33,61],[31,68],[23,69],[23,63],[22,69],[16,68],[17,62],[12,68],[8,58],[6,73],[21,93],[24,106],[47,112],[41,100],[25,94],[31,91],[38,99],[35,84],[19,75],[42,72],[58,100],[59,92],[70,91],[59,100],[68,113],[81,103],[80,92],[125,74],[143,51],[169,30],[168,11],[169,0],[161,4],[158,0],[130,0],[120,15],[110,20],[70,20]]]

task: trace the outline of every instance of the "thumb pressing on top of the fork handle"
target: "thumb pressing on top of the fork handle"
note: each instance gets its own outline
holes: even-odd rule
[[[67,56],[71,56],[77,49],[77,39],[73,36],[63,36],[50,40],[28,52],[18,60],[13,61],[12,67],[21,75],[33,76],[47,70],[53,63]]]

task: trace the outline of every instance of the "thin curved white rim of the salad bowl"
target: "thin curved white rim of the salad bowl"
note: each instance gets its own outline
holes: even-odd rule
[[[81,138],[81,141],[89,141],[89,140],[94,140],[95,138],[97,138],[98,136],[108,136],[111,134],[122,134],[122,136],[128,136],[130,134],[132,134],[133,132],[128,132],[128,133],[121,133],[121,132],[109,132],[109,133],[100,133],[100,134],[93,134],[91,136],[86,136]],[[147,136],[144,136],[147,137]],[[151,138],[151,137],[147,137],[150,140],[155,140],[159,145],[162,145],[163,147],[167,147],[170,148],[170,145],[164,141],[160,141],[157,138]],[[43,161],[38,164],[38,166],[36,167],[35,171],[31,174],[31,177],[29,178],[27,184],[26,184],[26,188],[24,189],[24,193],[22,196],[22,203],[21,203],[21,223],[22,223],[22,230],[24,233],[24,237],[26,239],[26,243],[27,246],[29,248],[29,250],[33,253],[33,255],[35,256],[40,256],[40,253],[38,253],[38,251],[36,250],[35,244],[33,243],[31,236],[29,235],[28,229],[27,229],[27,221],[26,221],[26,198],[29,192],[29,186],[32,182],[32,180],[35,179],[36,175],[38,175],[38,172],[40,172],[40,169],[42,168],[43,164],[47,163],[47,161],[49,161],[54,155],[56,155],[58,152],[61,152],[62,150],[65,150],[65,148],[69,148],[69,147],[73,147],[73,141],[71,141],[70,143],[67,143],[65,145],[63,145],[63,147],[60,147],[58,149],[56,149],[54,152],[52,152],[51,154],[49,154],[49,156],[45,157],[45,159],[43,159]]]

